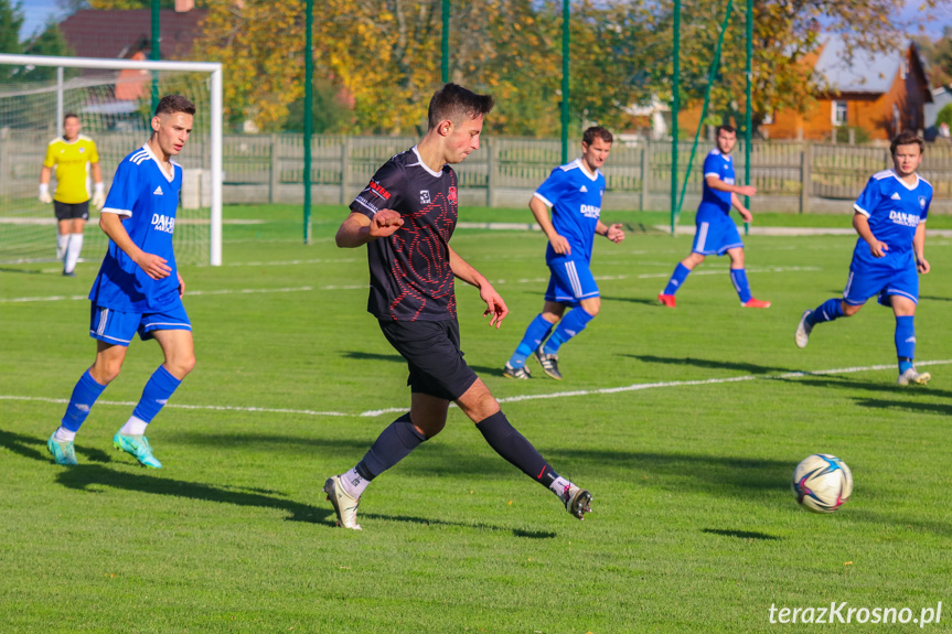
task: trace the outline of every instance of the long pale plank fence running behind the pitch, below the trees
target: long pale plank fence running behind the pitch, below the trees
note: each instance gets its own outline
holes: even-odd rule
[[[34,138],[35,137],[35,138]],[[140,144],[129,133],[99,133],[104,157]],[[0,135],[0,197],[33,192],[47,139]],[[416,142],[410,137],[315,136],[311,141],[312,196],[315,203],[346,204],[366,185],[389,157]],[[114,151],[104,151],[106,149]],[[121,150],[120,150],[121,148]],[[709,150],[698,146],[689,173],[691,143],[678,147],[681,180],[687,175],[687,205],[702,189],[702,164]],[[667,209],[671,192],[671,143],[617,141],[606,163],[607,208]],[[186,148],[179,162],[186,169],[190,154],[204,157],[204,148]],[[224,200],[226,203],[298,203],[303,198],[303,140],[297,135],[229,135],[224,138]],[[466,204],[524,206],[532,192],[559,164],[558,139],[490,138],[466,162],[456,165],[460,195]],[[742,143],[734,152],[738,180],[745,173]],[[843,208],[855,198],[869,176],[891,166],[887,147],[810,142],[755,142],[751,147],[751,184],[758,189],[757,208],[809,213]],[[104,160],[104,175],[115,165]],[[929,144],[920,174],[935,189],[935,211],[952,212],[952,144]],[[680,191],[680,187],[678,187]]]

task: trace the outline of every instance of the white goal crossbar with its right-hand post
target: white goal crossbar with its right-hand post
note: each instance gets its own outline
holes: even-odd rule
[[[94,57],[56,57],[50,55],[10,55],[0,53],[0,64],[50,66],[58,68],[57,82],[63,84],[63,68],[103,68],[110,71],[184,71],[211,75],[211,244],[210,262],[222,266],[222,64],[217,62],[170,62],[136,60],[101,60]],[[60,121],[63,114],[60,112]]]

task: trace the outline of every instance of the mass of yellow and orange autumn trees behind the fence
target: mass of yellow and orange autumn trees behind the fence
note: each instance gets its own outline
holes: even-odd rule
[[[101,0],[100,0],[101,1]],[[935,10],[939,0],[924,0]],[[302,111],[304,2],[207,0],[192,56],[225,65],[228,120],[265,130],[297,128]],[[488,130],[556,136],[561,100],[561,2],[452,0],[450,79],[493,94]],[[753,10],[755,122],[779,109],[803,111],[822,90],[803,57],[824,31],[856,47],[886,50],[905,37],[903,0],[761,0]],[[589,122],[622,129],[624,107],[672,95],[673,0],[574,0],[569,108],[579,131]],[[417,135],[440,85],[441,0],[314,2],[315,99],[329,132]],[[704,96],[726,0],[682,2],[681,94]],[[712,118],[745,108],[745,6],[734,3],[721,64],[712,86]],[[333,110],[334,116],[327,116]],[[742,117],[739,119],[742,120]]]

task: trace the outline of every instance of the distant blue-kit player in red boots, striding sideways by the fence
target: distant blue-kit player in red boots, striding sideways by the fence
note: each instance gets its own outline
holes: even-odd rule
[[[747,271],[744,268],[744,243],[740,241],[737,225],[730,219],[731,205],[737,208],[744,222],[749,223],[752,219],[750,209],[744,206],[739,196],[752,196],[757,190],[751,185],[735,184],[730,151],[737,143],[737,132],[730,126],[718,126],[716,133],[717,148],[704,160],[704,193],[700,206],[697,207],[697,232],[691,255],[674,268],[671,280],[657,295],[657,301],[667,308],[674,308],[674,293],[684,286],[691,271],[707,256],[719,257],[727,254],[730,257],[730,281],[740,298],[740,305],[752,309],[770,308],[770,302],[755,299],[750,293]]]

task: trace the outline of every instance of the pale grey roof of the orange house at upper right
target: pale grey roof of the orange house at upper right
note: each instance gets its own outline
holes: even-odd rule
[[[841,35],[824,35],[823,50],[814,71],[825,77],[830,88],[839,93],[886,93],[896,74],[906,63],[908,49],[886,53],[854,46],[849,56],[846,41]]]

